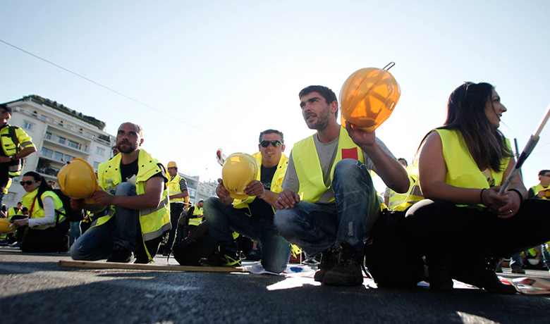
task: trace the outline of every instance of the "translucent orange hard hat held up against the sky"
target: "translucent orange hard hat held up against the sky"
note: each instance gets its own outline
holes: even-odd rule
[[[367,132],[376,130],[389,118],[399,96],[401,88],[387,70],[362,68],[355,71],[340,90],[342,125],[345,126],[348,120]]]

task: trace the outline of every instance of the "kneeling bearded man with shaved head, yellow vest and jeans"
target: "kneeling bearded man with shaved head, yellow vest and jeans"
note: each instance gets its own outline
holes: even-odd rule
[[[116,146],[120,154],[99,164],[100,190],[92,198],[106,206],[106,216],[80,236],[71,247],[75,260],[149,263],[171,228],[166,169],[141,148],[142,127],[123,123]]]

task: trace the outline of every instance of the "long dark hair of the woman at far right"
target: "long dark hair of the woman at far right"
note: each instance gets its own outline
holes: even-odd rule
[[[489,123],[485,115],[487,103],[492,105],[494,87],[489,83],[465,82],[448,97],[444,130],[459,130],[472,158],[480,170],[503,171],[503,158],[513,156],[502,132]]]

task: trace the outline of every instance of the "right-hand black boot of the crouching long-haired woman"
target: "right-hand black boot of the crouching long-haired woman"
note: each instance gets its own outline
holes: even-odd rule
[[[474,285],[493,294],[515,294],[518,292],[513,285],[505,285],[495,273],[500,258],[493,256],[479,257],[472,266],[462,266],[460,263],[453,267],[451,275],[458,281]]]

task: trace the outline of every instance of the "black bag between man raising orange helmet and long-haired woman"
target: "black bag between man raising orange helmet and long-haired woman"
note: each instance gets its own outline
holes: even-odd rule
[[[404,211],[381,213],[365,243],[365,266],[379,287],[414,287],[424,280],[424,261],[412,243]]]

